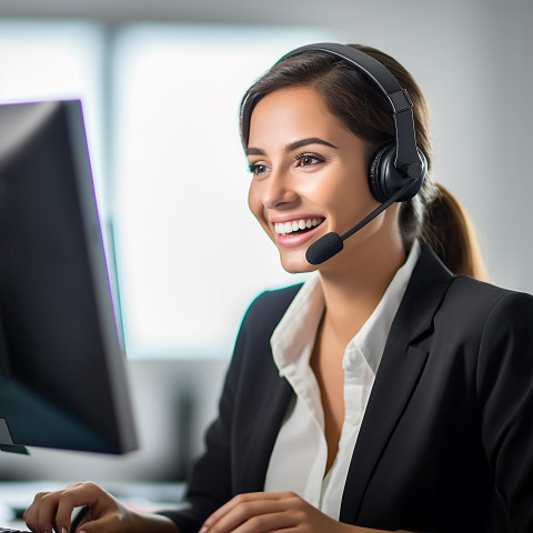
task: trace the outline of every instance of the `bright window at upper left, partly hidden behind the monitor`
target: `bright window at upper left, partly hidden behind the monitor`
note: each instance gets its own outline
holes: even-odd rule
[[[0,102],[80,99],[103,204],[102,31],[90,22],[0,20]]]

